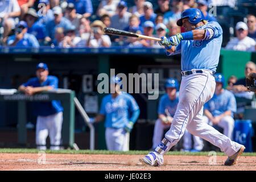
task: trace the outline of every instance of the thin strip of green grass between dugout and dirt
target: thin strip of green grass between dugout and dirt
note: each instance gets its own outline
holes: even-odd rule
[[[0,148],[0,154],[2,153],[12,153],[12,154],[36,154],[38,150],[36,149],[28,149],[28,148]],[[148,151],[127,151],[127,152],[119,152],[119,151],[108,151],[108,150],[60,150],[60,151],[51,151],[47,150],[47,154],[117,154],[117,155],[146,155]],[[180,152],[180,151],[171,151],[168,152],[167,155],[202,155],[207,156],[209,152]],[[217,152],[217,155],[224,156],[223,152]],[[244,156],[256,156],[256,153],[243,153]]]

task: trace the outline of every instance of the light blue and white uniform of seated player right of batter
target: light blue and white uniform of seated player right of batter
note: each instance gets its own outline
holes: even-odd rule
[[[218,126],[224,129],[224,135],[232,139],[233,129],[234,129],[234,119],[233,113],[237,110],[236,98],[232,92],[229,90],[224,90],[221,94],[214,94],[213,97],[204,105],[204,109],[210,111],[213,117],[223,114],[225,111],[232,111],[232,115],[226,115],[221,118],[221,121],[218,123]],[[212,125],[212,122],[209,121],[208,117],[204,116],[204,121]]]

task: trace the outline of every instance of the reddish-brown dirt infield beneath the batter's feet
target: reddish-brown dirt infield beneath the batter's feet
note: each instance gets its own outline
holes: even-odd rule
[[[56,171],[177,171],[177,170],[256,170],[256,156],[241,156],[235,166],[226,167],[225,156],[217,156],[209,164],[209,156],[166,155],[161,167],[137,164],[142,155],[82,155],[82,154],[0,154],[0,170]],[[45,160],[44,160],[45,159]]]

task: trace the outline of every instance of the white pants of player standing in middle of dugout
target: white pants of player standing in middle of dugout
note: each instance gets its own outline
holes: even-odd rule
[[[108,150],[128,151],[129,143],[127,143],[128,133],[125,129],[114,129],[107,127],[105,131],[106,146]]]

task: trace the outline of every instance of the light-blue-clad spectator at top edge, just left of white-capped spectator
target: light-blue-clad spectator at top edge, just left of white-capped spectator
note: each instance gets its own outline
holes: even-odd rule
[[[49,0],[39,0],[38,14],[40,23],[43,23],[44,25],[54,19]]]

